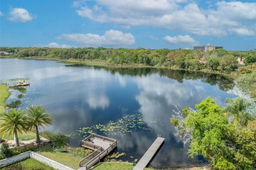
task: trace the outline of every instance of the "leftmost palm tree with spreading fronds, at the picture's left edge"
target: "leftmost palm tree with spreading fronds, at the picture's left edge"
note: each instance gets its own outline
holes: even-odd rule
[[[28,130],[27,115],[20,108],[10,109],[7,112],[3,112],[0,115],[0,120],[3,121],[0,124],[0,131],[2,137],[9,133],[9,137],[13,134],[15,146],[19,145],[18,132],[26,132]]]

